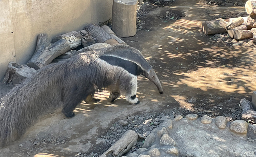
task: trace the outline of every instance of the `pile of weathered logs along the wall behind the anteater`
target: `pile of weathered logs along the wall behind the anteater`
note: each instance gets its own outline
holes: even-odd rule
[[[6,70],[5,84],[18,84],[42,67],[69,59],[79,53],[102,49],[115,44],[125,44],[108,26],[88,24],[81,31],[58,35],[49,41],[48,35],[38,35],[36,51],[26,65],[10,62]]]

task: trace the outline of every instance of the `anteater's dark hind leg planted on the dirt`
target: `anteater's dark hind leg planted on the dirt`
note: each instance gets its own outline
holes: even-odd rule
[[[77,86],[74,87],[71,92],[63,98],[64,106],[62,113],[69,118],[75,116],[73,110],[90,94],[91,92],[88,90],[79,89]]]

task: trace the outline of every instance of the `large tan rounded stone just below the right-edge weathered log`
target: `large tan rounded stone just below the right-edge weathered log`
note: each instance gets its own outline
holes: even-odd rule
[[[230,124],[230,130],[236,133],[247,133],[248,123],[244,120],[235,120]]]

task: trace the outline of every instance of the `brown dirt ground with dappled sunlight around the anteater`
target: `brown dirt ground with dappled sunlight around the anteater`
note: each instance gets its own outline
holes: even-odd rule
[[[22,139],[0,149],[0,156],[97,157],[128,129],[147,135],[163,116],[194,113],[199,117],[225,116],[229,121],[240,119],[240,100],[251,101],[256,90],[256,46],[249,40],[230,39],[225,33],[206,36],[201,24],[237,17],[244,10],[242,6],[218,6],[204,0],[177,0],[165,5],[145,2],[138,13],[136,35],[122,40],[142,52],[158,74],[164,94],[139,76],[140,104],[129,105],[124,98],[110,104],[109,93],[101,92],[96,95],[101,102],[82,102],[74,118],[65,118],[60,109],[44,116]],[[150,118],[154,124],[146,128],[142,122]],[[120,119],[129,124],[118,124]],[[143,139],[130,152],[142,143]]]

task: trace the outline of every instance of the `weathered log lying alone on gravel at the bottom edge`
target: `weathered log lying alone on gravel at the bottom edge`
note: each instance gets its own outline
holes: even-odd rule
[[[136,145],[137,140],[138,134],[133,130],[128,130],[114,145],[100,155],[100,157],[121,157],[124,153],[128,152],[131,147]]]

